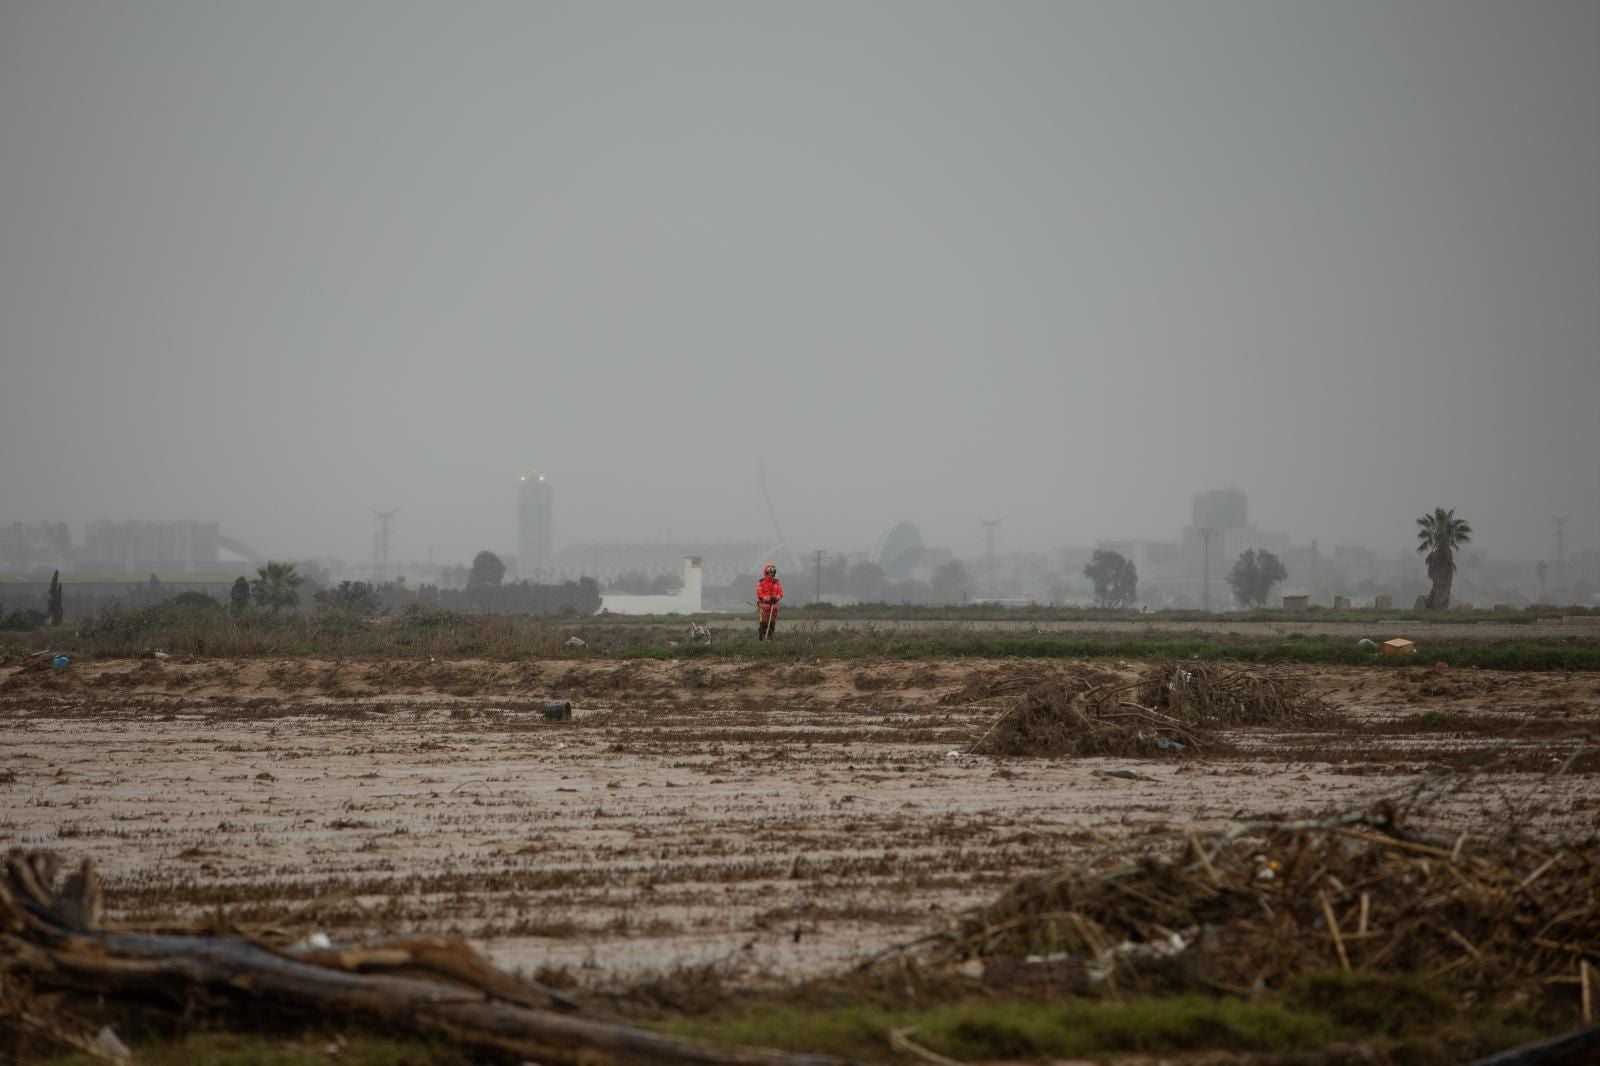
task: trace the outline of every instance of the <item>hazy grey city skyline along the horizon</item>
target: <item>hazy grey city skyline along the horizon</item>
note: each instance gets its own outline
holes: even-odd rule
[[[549,480],[538,474],[518,480],[518,539],[528,559],[539,559],[549,541],[550,509]],[[870,547],[840,544],[835,541],[822,554],[821,573],[827,575],[824,591],[832,597],[899,595],[918,597],[925,602],[962,586],[958,571],[944,571],[950,562],[965,563],[966,589],[974,594],[973,579],[982,575],[981,594],[1003,602],[1083,602],[1088,584],[1082,575],[1098,549],[1115,551],[1138,568],[1139,602],[1150,607],[1203,607],[1226,610],[1230,602],[1226,576],[1232,562],[1245,549],[1269,551],[1286,567],[1280,594],[1309,597],[1312,603],[1330,605],[1333,595],[1370,599],[1379,594],[1397,595],[1394,602],[1405,605],[1416,589],[1426,584],[1421,559],[1408,551],[1382,551],[1360,544],[1320,544],[1294,541],[1288,533],[1240,525],[1248,520],[1248,496],[1240,490],[1208,490],[1192,498],[1192,522],[1182,527],[1178,539],[1171,538],[1101,538],[1093,546],[1059,544],[1048,551],[952,551],[946,546],[926,544],[920,528],[901,520],[874,541]],[[381,517],[394,517],[386,512]],[[1213,525],[1200,527],[1198,522]],[[1555,522],[1560,528],[1565,523]],[[1208,533],[1208,536],[1202,536]],[[680,539],[635,541],[578,541],[560,546],[538,567],[528,567],[515,552],[494,546],[486,551],[517,562],[509,579],[534,583],[562,583],[578,578],[595,578],[602,587],[611,583],[654,581],[682,573],[686,555],[704,562],[706,579],[717,586],[739,586],[757,573],[760,565],[774,557],[784,557],[771,541],[714,543]],[[485,551],[485,549],[475,549]],[[1203,555],[1202,549],[1210,549]],[[798,546],[795,552],[811,560],[811,547]],[[416,584],[459,583],[467,571],[467,557],[437,559],[427,562],[418,557],[394,557],[386,567],[374,560],[341,560],[299,552],[270,552],[283,562],[304,563],[317,581],[365,579],[384,581],[405,576]],[[1590,602],[1600,592],[1600,551],[1576,549],[1566,552],[1566,565],[1558,557],[1539,573],[1541,560],[1509,557],[1474,544],[1459,554],[1458,587],[1461,602],[1482,599],[1482,605],[1530,602]],[[232,581],[232,575],[248,573],[266,555],[259,549],[232,538],[216,522],[93,522],[85,527],[82,543],[72,530],[59,522],[0,523],[0,573],[8,586],[27,586],[42,581],[54,568],[67,575],[74,587],[88,587],[96,581],[102,591],[115,591],[126,583],[142,589],[144,578],[160,575],[174,584],[195,581]],[[869,565],[875,563],[875,565]],[[32,575],[32,578],[29,576]],[[229,575],[222,578],[222,575]],[[813,567],[802,565],[798,575],[802,602],[814,591]],[[819,576],[819,575],[818,575]],[[1210,578],[1210,595],[1203,578]],[[88,584],[85,584],[88,583]],[[901,583],[901,584],[896,584]],[[197,586],[198,587],[198,586]],[[920,589],[920,591],[918,591]],[[1549,592],[1550,600],[1534,600]],[[939,600],[934,600],[939,602]],[[947,600],[944,600],[947,602]]]

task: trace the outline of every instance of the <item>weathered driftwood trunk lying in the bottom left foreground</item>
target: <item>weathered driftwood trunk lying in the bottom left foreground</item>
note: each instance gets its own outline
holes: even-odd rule
[[[370,1024],[448,1034],[507,1061],[830,1066],[837,1060],[690,1044],[586,1016],[560,992],[494,968],[458,938],[280,948],[238,935],[102,927],[91,863],[58,888],[53,853],[0,871],[0,1060],[75,1048],[117,1061],[107,1021],[138,1016]]]

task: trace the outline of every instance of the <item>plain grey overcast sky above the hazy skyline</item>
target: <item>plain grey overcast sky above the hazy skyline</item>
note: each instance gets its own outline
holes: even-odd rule
[[[1600,538],[1600,3],[0,0],[0,522]]]

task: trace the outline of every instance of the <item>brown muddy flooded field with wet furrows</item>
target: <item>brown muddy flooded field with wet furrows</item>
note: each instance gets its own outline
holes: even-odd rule
[[[1278,667],[1323,711],[1182,749],[974,754],[1096,663],[139,659],[0,671],[0,840],[114,920],[454,932],[509,967],[838,970],[1174,828],[1411,795],[1600,821],[1600,675]],[[570,720],[550,720],[570,701]]]

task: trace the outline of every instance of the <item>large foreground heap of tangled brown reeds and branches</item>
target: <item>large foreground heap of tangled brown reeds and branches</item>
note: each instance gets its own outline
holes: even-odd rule
[[[1600,842],[1440,839],[1392,808],[1186,834],[1016,882],[936,941],[970,975],[1250,994],[1318,970],[1600,1008]]]

